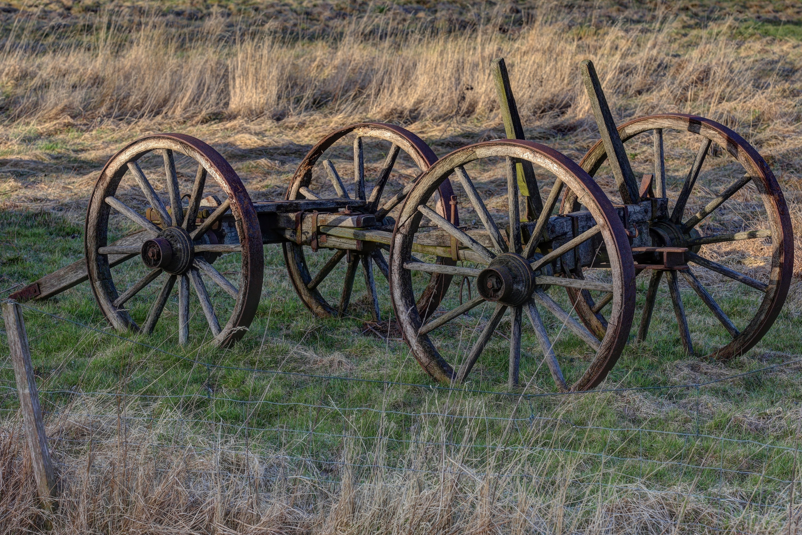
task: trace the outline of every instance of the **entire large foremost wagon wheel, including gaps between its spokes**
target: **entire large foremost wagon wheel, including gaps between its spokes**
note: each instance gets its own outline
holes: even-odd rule
[[[544,209],[537,221],[531,223],[520,222],[523,198],[516,180],[516,164],[520,161],[543,169],[538,175],[538,188],[545,188],[551,180],[549,174],[553,176],[554,185],[548,196],[541,195],[547,199]],[[498,169],[494,166],[504,169],[506,180],[488,182],[488,174],[498,175],[497,172],[492,175]],[[474,179],[468,176],[468,171]],[[437,188],[452,173],[461,185],[458,198],[465,201],[460,208],[462,219],[474,221],[480,225],[479,229],[459,228],[431,209]],[[480,176],[484,176],[481,182]],[[549,218],[564,188],[576,193],[587,211],[572,214],[573,217]],[[533,193],[531,189],[529,193]],[[422,225],[424,217],[428,220],[426,225]],[[572,221],[577,221],[577,228]],[[432,227],[438,230],[429,232]],[[560,234],[559,244],[557,238],[542,240],[546,229],[557,235],[557,227],[565,231]],[[461,265],[427,261],[430,251],[437,250],[429,249],[433,245],[427,244],[443,242],[440,235],[453,237],[463,245],[458,253]],[[532,367],[545,361],[560,391],[586,390],[602,382],[626,344],[635,295],[630,255],[624,227],[613,206],[577,164],[541,144],[488,141],[444,156],[415,183],[395,226],[390,290],[403,337],[433,378],[446,383],[464,381],[483,352],[484,362],[492,367],[492,355],[503,345],[504,353],[508,353],[508,384],[515,386],[519,381],[521,351],[529,350],[522,347],[525,335],[523,342],[531,342],[544,355],[542,360],[532,361]],[[568,265],[575,261],[609,262],[608,280],[553,277],[552,264],[563,261]],[[416,286],[419,286],[415,277],[427,273],[472,278],[477,295],[461,304],[449,297],[440,306],[442,314],[424,317],[415,306]],[[549,290],[549,286],[554,289]],[[561,294],[557,292],[560,286],[613,294],[611,306],[615,319],[601,342],[573,319],[570,307],[555,301],[553,295]],[[496,336],[507,310],[510,311],[507,334]],[[524,315],[528,316],[532,330],[525,328]],[[573,358],[577,355],[580,356]]]

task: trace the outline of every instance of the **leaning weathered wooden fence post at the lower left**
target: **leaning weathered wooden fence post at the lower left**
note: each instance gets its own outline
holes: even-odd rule
[[[36,487],[44,509],[51,511],[55,501],[55,474],[47,450],[47,436],[39,406],[39,393],[36,388],[34,366],[30,362],[30,348],[22,310],[18,303],[2,303],[2,315],[6,320],[6,336],[11,359],[14,361],[14,375],[17,379],[19,405],[22,408],[22,422],[30,451],[30,464],[34,469]]]

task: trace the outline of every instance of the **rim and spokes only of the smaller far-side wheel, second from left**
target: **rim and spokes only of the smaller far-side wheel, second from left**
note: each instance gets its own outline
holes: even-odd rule
[[[356,137],[356,140],[354,140],[354,157],[357,158],[358,161],[362,162],[362,164],[364,164],[364,162],[360,159],[360,157],[363,152],[362,144],[359,140],[365,138],[374,138],[385,140],[392,144],[390,149],[391,154],[388,156],[389,160],[385,162],[385,167],[383,168],[383,171],[387,170],[387,176],[380,176],[377,178],[377,182],[381,181],[382,178],[384,180],[391,180],[390,172],[395,164],[395,156],[397,156],[399,151],[403,151],[410,156],[421,172],[425,171],[431,166],[431,164],[434,164],[435,161],[437,161],[437,156],[435,156],[435,153],[432,152],[431,148],[429,148],[429,146],[418,136],[415,136],[415,134],[408,132],[404,128],[395,126],[393,124],[382,123],[352,124],[330,133],[310,150],[310,152],[302,160],[301,164],[298,165],[298,169],[296,170],[293,179],[290,181],[290,187],[287,189],[286,199],[294,200],[302,198],[302,196],[305,195],[302,190],[314,194],[313,192],[310,192],[308,188],[310,187],[312,180],[312,170],[316,164],[320,163],[323,163],[326,166],[330,165],[329,168],[326,168],[326,172],[330,176],[330,180],[338,192],[338,197],[343,198],[345,195],[349,195],[347,192],[345,192],[345,189],[347,188],[343,184],[345,180],[338,180],[342,179],[342,177],[339,177],[334,165],[326,164],[328,160],[321,160],[322,156],[326,154],[326,151],[328,151],[339,140],[342,140],[342,138],[349,135]],[[393,156],[393,153],[395,153],[395,156]],[[334,178],[332,175],[337,176],[338,178]],[[387,181],[383,182],[383,185],[384,184],[387,184]],[[383,204],[387,197],[383,197],[383,186],[379,188],[378,198],[375,199],[371,197],[372,192],[366,192],[364,188],[365,182],[363,179],[363,185],[361,188],[358,185],[354,188],[356,191],[351,192],[353,195],[351,198],[361,198],[363,200],[372,201],[368,206],[367,213],[374,214],[377,220],[383,219],[387,215],[387,212],[389,212],[389,210],[383,210]],[[453,194],[451,184],[448,182],[448,180],[445,180],[444,183],[441,184],[439,193],[441,199],[447,200],[445,203],[439,203],[439,213],[444,217],[448,217],[450,221],[452,221],[453,217],[453,221],[458,222],[459,217],[456,211],[456,206],[452,206],[448,203],[448,200],[451,199]],[[391,198],[387,200],[393,201]],[[403,197],[396,198],[394,202],[395,205],[399,205],[401,202],[403,202]],[[372,245],[368,245],[368,247],[371,246]],[[305,250],[305,247],[306,246],[304,245],[297,245],[291,242],[283,245],[284,258],[286,261],[287,270],[290,273],[290,280],[293,282],[295,291],[298,293],[298,296],[301,298],[302,302],[307,306],[307,308],[322,318],[346,315],[348,302],[350,301],[351,287],[353,285],[355,273],[358,270],[357,264],[361,262],[363,265],[368,291],[372,294],[370,297],[375,303],[373,319],[375,321],[379,321],[379,305],[377,297],[378,294],[375,290],[375,275],[373,274],[371,261],[367,259],[372,259],[379,270],[385,272],[387,270],[387,261],[383,259],[383,253],[381,252],[381,249],[374,248],[372,251],[367,251],[366,253],[350,254],[350,264],[346,270],[346,280],[343,283],[340,303],[339,306],[333,306],[327,302],[326,298],[320,293],[320,291],[318,291],[317,284],[310,284],[313,282],[313,280],[314,282],[318,282],[318,280],[315,279],[310,273],[310,269],[306,260],[306,254],[310,252],[310,249],[307,247]],[[326,269],[333,269],[334,265],[336,265],[340,260],[342,260],[342,256],[332,257],[331,262],[333,265],[327,263],[322,271]],[[452,260],[450,258],[444,258],[441,263],[450,264],[452,263]],[[448,285],[450,284],[451,279],[452,277],[448,274],[432,275],[431,281],[427,286],[427,291],[421,295],[419,299],[419,308],[424,315],[431,314],[437,308],[446,290],[448,290]],[[310,286],[313,287],[310,288]]]

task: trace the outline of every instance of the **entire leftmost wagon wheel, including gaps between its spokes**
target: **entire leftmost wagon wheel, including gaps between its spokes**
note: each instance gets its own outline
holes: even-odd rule
[[[131,228],[125,245],[107,246]],[[264,269],[257,215],[237,173],[201,140],[159,134],[115,154],[92,192],[84,246],[92,291],[117,330],[151,334],[161,319],[185,344],[192,322],[205,322],[227,346],[253,320]]]

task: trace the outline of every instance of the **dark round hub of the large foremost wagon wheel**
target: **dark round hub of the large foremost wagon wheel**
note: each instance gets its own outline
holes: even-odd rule
[[[520,254],[503,253],[493,258],[476,281],[480,295],[488,301],[518,306],[535,290],[535,274]]]

